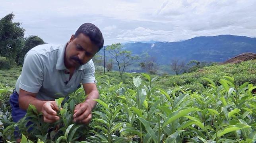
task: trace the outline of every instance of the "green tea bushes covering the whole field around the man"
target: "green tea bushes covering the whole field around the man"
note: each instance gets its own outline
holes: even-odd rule
[[[118,71],[96,73],[100,99],[88,126],[72,120],[74,106],[85,99],[82,88],[69,99],[56,100],[62,107],[58,122],[44,123],[31,105],[29,119],[14,124],[8,103],[12,88],[1,85],[0,141],[15,141],[14,127],[19,126],[23,143],[253,143],[255,62],[209,66],[173,76],[126,73],[120,78]],[[19,73],[20,68],[8,72]],[[33,122],[29,131],[28,121]]]

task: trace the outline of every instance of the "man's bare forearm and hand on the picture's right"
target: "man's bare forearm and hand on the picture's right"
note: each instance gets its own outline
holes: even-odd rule
[[[91,120],[91,110],[97,104],[94,99],[99,98],[99,92],[95,83],[85,83],[83,84],[83,89],[87,95],[85,102],[76,105],[74,110],[74,122],[80,122],[83,124],[89,124]]]

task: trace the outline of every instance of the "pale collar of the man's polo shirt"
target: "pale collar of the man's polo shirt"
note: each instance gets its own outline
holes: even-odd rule
[[[64,64],[64,56],[65,56],[65,50],[66,50],[66,46],[68,43],[66,43],[65,45],[60,45],[60,48],[58,50],[58,54],[57,54],[57,64],[56,64],[56,70],[66,70],[66,66]],[[78,70],[84,70],[86,68],[86,64],[81,65]]]

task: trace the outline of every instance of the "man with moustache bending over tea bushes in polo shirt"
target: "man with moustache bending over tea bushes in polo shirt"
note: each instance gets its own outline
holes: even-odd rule
[[[29,104],[43,113],[45,122],[57,116],[56,98],[65,97],[82,83],[87,98],[76,105],[74,122],[89,124],[99,98],[91,58],[103,47],[103,36],[94,24],[82,24],[65,45],[45,44],[32,48],[24,58],[16,91],[10,96],[14,122],[23,118]]]

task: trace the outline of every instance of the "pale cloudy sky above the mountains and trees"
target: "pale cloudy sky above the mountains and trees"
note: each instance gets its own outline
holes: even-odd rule
[[[47,43],[66,43],[83,23],[101,30],[104,45],[256,37],[256,0],[0,0],[0,18],[8,13]]]

